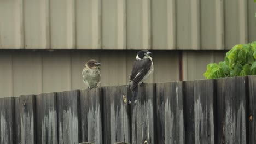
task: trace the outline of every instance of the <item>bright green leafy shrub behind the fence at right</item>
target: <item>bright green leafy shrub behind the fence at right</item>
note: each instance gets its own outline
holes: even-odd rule
[[[256,41],[238,44],[226,53],[225,61],[210,63],[203,74],[207,79],[256,74]]]

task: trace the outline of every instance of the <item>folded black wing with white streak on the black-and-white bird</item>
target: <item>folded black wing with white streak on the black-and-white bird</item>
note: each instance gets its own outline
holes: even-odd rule
[[[132,81],[131,89],[135,88],[152,67],[150,59],[135,61],[131,71],[129,83]]]

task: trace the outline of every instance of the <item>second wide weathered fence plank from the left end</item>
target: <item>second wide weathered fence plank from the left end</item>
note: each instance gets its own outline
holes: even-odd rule
[[[21,143],[36,143],[36,109],[34,95],[22,95],[20,97],[20,131]]]

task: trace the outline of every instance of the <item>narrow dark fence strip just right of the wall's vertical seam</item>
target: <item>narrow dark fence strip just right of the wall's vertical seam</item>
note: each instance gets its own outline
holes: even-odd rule
[[[185,143],[195,143],[194,82],[185,81]]]

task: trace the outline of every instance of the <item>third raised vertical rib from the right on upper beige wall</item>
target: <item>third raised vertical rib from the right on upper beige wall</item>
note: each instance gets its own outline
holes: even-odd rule
[[[191,1],[191,49],[200,49],[200,1]]]

